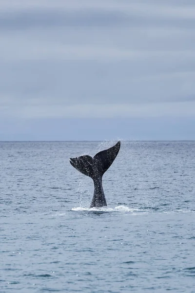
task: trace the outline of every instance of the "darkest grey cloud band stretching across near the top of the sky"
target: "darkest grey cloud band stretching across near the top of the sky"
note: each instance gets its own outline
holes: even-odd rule
[[[143,7],[142,7],[143,6]],[[120,6],[118,5],[120,8]],[[191,28],[195,18],[190,9],[162,8],[151,4],[113,5],[108,9],[35,9],[11,10],[0,14],[0,30],[26,30],[49,27],[180,27]],[[192,7],[195,11],[195,6]]]

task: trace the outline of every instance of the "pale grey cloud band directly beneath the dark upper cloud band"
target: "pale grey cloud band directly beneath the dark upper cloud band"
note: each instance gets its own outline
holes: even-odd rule
[[[0,56],[15,60],[130,60],[184,55],[194,59],[195,30],[54,29],[20,31],[0,36]],[[108,37],[109,36],[109,37]],[[160,60],[159,60],[160,62]],[[138,63],[137,63],[138,64]],[[170,63],[171,64],[171,63]],[[179,62],[180,64],[180,62]],[[183,63],[185,66],[185,63]]]

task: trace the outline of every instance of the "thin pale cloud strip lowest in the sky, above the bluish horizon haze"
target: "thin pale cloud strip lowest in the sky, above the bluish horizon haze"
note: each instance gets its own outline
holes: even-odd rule
[[[128,118],[195,116],[195,101],[142,104],[15,105],[14,113],[4,107],[5,117],[29,118]],[[1,116],[1,117],[2,117]]]

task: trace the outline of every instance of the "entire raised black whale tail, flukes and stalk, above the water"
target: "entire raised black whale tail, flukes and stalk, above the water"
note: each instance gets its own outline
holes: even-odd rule
[[[94,196],[90,208],[107,206],[102,187],[102,176],[112,165],[120,149],[120,141],[115,146],[98,152],[94,158],[84,155],[70,158],[70,163],[81,173],[91,177],[94,181]]]

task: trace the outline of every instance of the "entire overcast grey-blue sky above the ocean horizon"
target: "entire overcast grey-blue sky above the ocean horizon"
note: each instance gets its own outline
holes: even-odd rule
[[[0,0],[0,141],[195,140],[194,0]]]

